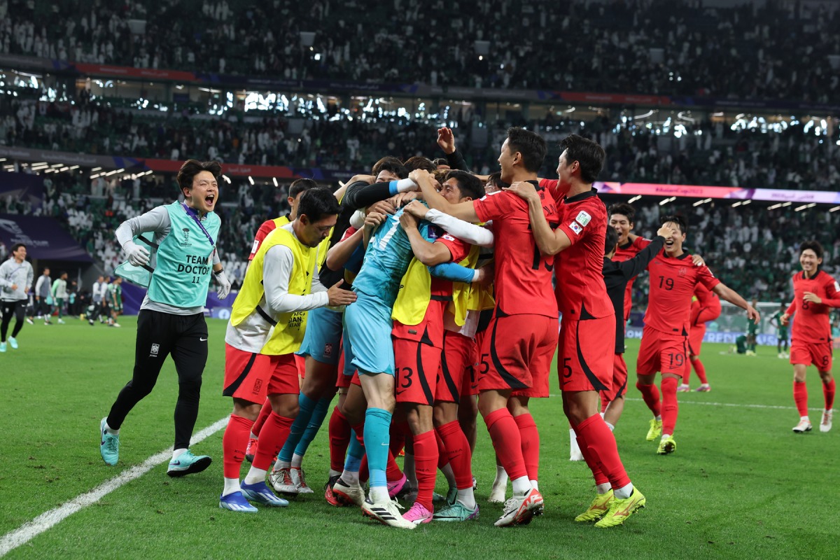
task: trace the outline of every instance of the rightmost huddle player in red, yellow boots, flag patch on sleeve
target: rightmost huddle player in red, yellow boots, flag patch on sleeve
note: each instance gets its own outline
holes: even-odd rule
[[[509,191],[528,201],[528,215],[540,254],[560,254],[554,295],[563,322],[558,374],[563,411],[595,477],[598,495],[576,521],[598,527],[621,525],[644,507],[645,497],[630,482],[616,439],[599,413],[598,391],[612,388],[612,352],[604,352],[605,332],[616,332],[616,314],[606,294],[603,264],[606,207],[592,187],[604,165],[604,149],[570,134],[560,142],[558,181],[541,181],[558,202],[560,223],[546,219],[533,186],[517,182]]]

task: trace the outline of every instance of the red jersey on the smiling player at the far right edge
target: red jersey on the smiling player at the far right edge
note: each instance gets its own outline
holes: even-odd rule
[[[805,292],[810,291],[822,299],[822,303],[805,301]],[[793,302],[785,313],[796,313],[791,338],[803,343],[825,343],[832,340],[832,325],[828,317],[829,307],[840,307],[840,285],[827,272],[817,270],[811,278],[805,272],[793,276]],[[798,311],[798,312],[797,312]]]

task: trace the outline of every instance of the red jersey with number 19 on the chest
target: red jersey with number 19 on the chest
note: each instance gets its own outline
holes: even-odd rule
[[[660,332],[688,336],[690,331],[691,296],[696,285],[702,284],[711,290],[721,281],[711,274],[707,266],[695,266],[691,255],[679,257],[656,255],[648,264],[650,292],[648,311],[644,324]]]

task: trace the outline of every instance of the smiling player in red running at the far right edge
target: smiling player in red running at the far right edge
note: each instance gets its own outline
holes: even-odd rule
[[[799,423],[795,433],[810,432],[808,419],[808,390],[805,385],[806,368],[813,364],[822,379],[822,395],[825,408],[822,410],[820,432],[832,429],[832,406],[834,405],[834,378],[832,377],[832,324],[828,317],[829,307],[840,307],[840,285],[820,269],[822,245],[806,241],[800,245],[799,264],[801,273],[793,277],[793,301],[780,317],[782,325],[793,322],[790,343],[790,364],[793,364],[793,400],[799,411]]]

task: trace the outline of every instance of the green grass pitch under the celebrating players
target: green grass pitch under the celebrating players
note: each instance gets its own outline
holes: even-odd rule
[[[210,359],[196,430],[230,412],[221,396],[225,323],[209,320]],[[155,391],[129,415],[117,467],[97,451],[99,420],[129,379],[132,317],[122,328],[27,325],[20,349],[0,354],[0,535],[143,463],[172,443],[176,375],[167,361]],[[628,473],[648,507],[625,526],[575,523],[594,495],[584,463],[570,463],[568,424],[559,396],[533,402],[541,436],[540,489],[545,515],[530,526],[497,529],[501,505],[486,502],[495,464],[479,421],[473,459],[479,521],[397,531],[358,510],[328,506],[319,493],[328,470],[327,429],[304,467],[315,495],[257,515],[220,510],[222,432],[195,445],[214,459],[182,479],[165,464],[106,495],[31,541],[10,558],[806,558],[836,557],[840,427],[820,433],[822,390],[808,374],[814,432],[795,435],[791,368],[774,348],[755,358],[708,344],[703,359],[711,393],[680,394],[676,453],[659,457],[645,441],[649,412],[633,387],[638,341],[628,341],[629,400],[616,437]],[[697,385],[696,377],[693,385]],[[553,392],[559,393],[552,376]],[[245,471],[243,471],[244,473]],[[445,480],[438,477],[438,491]],[[508,490],[508,495],[509,494]]]

